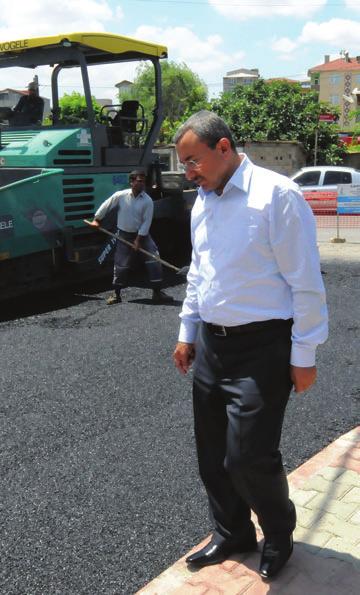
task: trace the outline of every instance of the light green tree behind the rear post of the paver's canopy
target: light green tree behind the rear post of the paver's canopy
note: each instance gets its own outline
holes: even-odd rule
[[[164,60],[161,62],[161,71],[164,121],[159,140],[170,142],[182,121],[192,113],[208,107],[207,88],[200,77],[184,63]],[[155,106],[154,80],[152,64],[144,63],[137,70],[131,91],[120,95],[120,101],[138,99],[144,106],[149,121]]]

